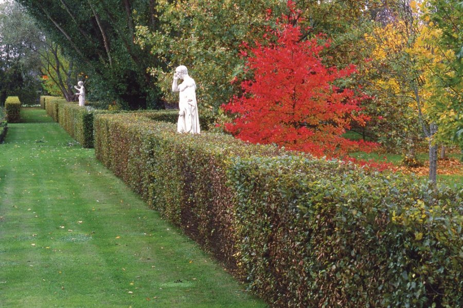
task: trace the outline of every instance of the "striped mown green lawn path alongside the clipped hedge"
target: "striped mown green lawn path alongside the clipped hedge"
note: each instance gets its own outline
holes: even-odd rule
[[[44,110],[0,144],[0,306],[264,307]]]

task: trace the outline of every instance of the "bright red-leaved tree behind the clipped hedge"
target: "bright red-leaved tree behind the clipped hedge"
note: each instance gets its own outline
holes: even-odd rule
[[[236,115],[225,129],[244,141],[275,143],[317,157],[374,148],[376,144],[342,137],[352,121],[367,120],[359,106],[366,96],[334,85],[355,67],[327,68],[320,52],[329,42],[319,44],[322,36],[301,40],[295,17],[282,18],[277,30],[269,28],[264,34],[267,43],[242,52],[254,79],[243,81],[243,94],[222,106]]]

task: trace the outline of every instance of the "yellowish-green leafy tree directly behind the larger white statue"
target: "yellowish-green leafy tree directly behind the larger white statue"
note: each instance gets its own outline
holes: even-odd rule
[[[137,20],[136,43],[152,54],[150,73],[156,76],[163,98],[175,102],[171,93],[172,72],[185,65],[197,80],[202,125],[211,124],[219,107],[238,89],[244,60],[238,54],[243,42],[253,42],[271,24],[279,1],[158,1],[159,25]],[[158,65],[157,60],[161,60]]]

